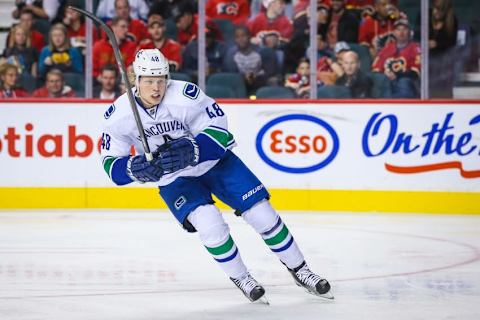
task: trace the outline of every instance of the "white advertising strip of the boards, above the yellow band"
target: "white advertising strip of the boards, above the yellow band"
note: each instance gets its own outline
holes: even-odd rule
[[[480,192],[478,104],[220,105],[270,188]],[[0,187],[113,186],[99,157],[108,107],[0,102]]]

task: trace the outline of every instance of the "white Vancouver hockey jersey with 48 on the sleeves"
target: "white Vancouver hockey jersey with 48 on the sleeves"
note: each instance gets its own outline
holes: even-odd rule
[[[132,89],[135,94],[135,88]],[[144,109],[137,101],[136,107],[142,121],[151,152],[166,141],[184,136],[206,134],[222,148],[235,145],[228,132],[227,117],[212,98],[196,85],[169,80],[162,102]],[[104,114],[102,135],[102,161],[104,169],[112,177],[113,163],[129,156],[131,146],[137,154],[144,154],[142,142],[132,114],[127,93],[121,95]],[[192,167],[164,175],[159,186],[173,182],[177,177],[198,177],[210,170],[218,160],[208,160]]]

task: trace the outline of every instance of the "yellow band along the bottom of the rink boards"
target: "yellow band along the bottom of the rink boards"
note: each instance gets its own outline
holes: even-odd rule
[[[270,193],[278,210],[480,214],[480,193],[287,189],[272,189]],[[36,208],[167,206],[156,188],[0,188],[0,209]]]

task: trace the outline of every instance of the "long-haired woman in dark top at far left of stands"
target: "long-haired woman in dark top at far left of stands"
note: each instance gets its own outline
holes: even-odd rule
[[[19,69],[19,73],[29,73],[37,75],[38,52],[31,46],[31,40],[27,36],[28,32],[22,25],[18,24],[10,30],[8,45],[3,56],[10,63],[13,62]]]

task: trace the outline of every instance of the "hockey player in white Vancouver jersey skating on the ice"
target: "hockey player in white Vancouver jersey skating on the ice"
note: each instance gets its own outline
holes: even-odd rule
[[[196,85],[169,79],[168,61],[158,49],[139,50],[132,89],[154,159],[143,152],[127,94],[104,114],[103,167],[117,185],[154,182],[169,209],[200,240],[250,301],[265,289],[250,275],[212,194],[235,209],[288,268],[297,285],[333,298],[327,280],[308,268],[285,223],[272,208],[258,178],[231,151],[227,117]],[[139,155],[131,156],[135,146]]]

